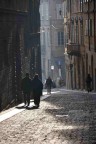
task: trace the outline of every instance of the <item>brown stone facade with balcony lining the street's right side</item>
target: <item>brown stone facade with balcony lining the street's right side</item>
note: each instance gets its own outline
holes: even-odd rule
[[[92,88],[96,90],[96,1],[67,1],[67,59],[69,83],[72,89],[86,89],[86,77],[90,73]],[[68,75],[68,72],[67,72]]]

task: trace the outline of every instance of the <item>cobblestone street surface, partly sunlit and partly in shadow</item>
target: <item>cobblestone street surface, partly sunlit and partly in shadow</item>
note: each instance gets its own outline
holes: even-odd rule
[[[95,144],[96,94],[61,90],[0,123],[0,144]]]

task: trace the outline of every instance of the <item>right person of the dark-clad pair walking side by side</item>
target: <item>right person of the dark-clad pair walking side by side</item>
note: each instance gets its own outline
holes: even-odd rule
[[[42,95],[43,83],[39,79],[39,75],[35,74],[32,80],[32,93],[34,97],[34,104],[38,108],[40,105],[40,96]]]

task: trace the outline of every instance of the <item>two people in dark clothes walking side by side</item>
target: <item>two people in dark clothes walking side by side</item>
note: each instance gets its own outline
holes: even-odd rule
[[[26,73],[26,77],[22,79],[21,88],[24,95],[25,106],[30,105],[31,93],[34,98],[34,104],[38,108],[40,105],[40,96],[42,95],[43,84],[39,79],[38,74],[35,74],[34,78],[31,80],[29,74]]]

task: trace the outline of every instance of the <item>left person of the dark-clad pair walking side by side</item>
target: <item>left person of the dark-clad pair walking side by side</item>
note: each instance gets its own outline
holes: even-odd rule
[[[22,79],[21,88],[24,95],[25,106],[29,106],[31,94],[31,79],[29,78],[29,73],[26,73],[26,77]]]

